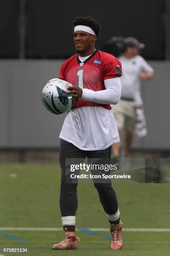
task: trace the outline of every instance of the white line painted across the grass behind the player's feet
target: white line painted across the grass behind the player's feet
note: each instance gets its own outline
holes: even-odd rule
[[[91,231],[108,232],[108,228],[87,228]],[[0,228],[0,230],[21,230],[21,231],[63,231],[62,228]],[[79,228],[77,231],[81,231]],[[170,228],[123,228],[127,232],[170,232]]]

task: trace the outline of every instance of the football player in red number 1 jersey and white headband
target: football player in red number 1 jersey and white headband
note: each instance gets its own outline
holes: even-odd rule
[[[111,145],[120,141],[110,104],[120,100],[121,63],[114,56],[95,49],[95,41],[100,36],[97,20],[90,16],[78,17],[73,25],[77,54],[62,64],[60,79],[73,84],[67,89],[78,101],[66,116],[60,133],[60,210],[65,238],[52,246],[55,250],[77,249],[77,183],[65,180],[66,158],[108,159]],[[94,183],[94,186],[110,222],[110,249],[120,250],[122,223],[111,181]]]

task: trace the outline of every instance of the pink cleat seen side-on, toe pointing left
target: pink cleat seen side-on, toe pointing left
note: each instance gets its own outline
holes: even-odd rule
[[[80,238],[75,238],[75,241],[72,241],[72,238],[68,238],[68,230],[64,230],[65,238],[57,244],[52,246],[52,250],[77,250],[77,241],[80,241]]]

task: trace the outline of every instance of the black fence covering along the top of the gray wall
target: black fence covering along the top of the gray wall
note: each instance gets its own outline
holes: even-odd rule
[[[0,58],[71,56],[72,20],[84,15],[102,26],[97,49],[103,50],[111,36],[134,36],[146,44],[141,52],[145,59],[167,59],[168,13],[163,0],[1,0]]]

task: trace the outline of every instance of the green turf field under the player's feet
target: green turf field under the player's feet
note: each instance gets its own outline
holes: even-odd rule
[[[114,184],[123,227],[170,228],[170,184]],[[170,255],[170,232],[124,231],[122,251],[110,251],[109,228],[93,184],[78,186],[77,251],[52,251],[62,231],[2,228],[62,228],[60,167],[50,164],[0,164],[0,255]],[[18,241],[18,240],[21,241]],[[23,241],[22,241],[23,240]],[[3,248],[28,248],[4,253]]]

